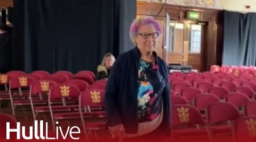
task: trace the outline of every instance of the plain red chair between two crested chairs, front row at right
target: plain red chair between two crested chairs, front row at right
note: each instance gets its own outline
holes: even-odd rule
[[[232,126],[230,121],[240,118],[241,114],[232,103],[217,102],[207,107],[206,116],[210,133],[212,136],[216,136],[220,133],[231,135]]]

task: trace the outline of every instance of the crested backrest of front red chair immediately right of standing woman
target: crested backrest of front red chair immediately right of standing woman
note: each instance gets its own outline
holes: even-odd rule
[[[205,124],[199,110],[191,105],[175,105],[172,106],[171,126],[179,126],[183,124]]]

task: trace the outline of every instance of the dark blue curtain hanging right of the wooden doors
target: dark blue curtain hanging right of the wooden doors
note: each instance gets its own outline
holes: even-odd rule
[[[222,64],[256,65],[256,13],[224,11]]]

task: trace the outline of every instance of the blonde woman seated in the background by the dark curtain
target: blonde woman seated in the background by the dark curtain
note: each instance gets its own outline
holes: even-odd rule
[[[108,78],[114,62],[115,57],[112,55],[112,53],[106,53],[104,55],[101,64],[97,66],[97,80]]]

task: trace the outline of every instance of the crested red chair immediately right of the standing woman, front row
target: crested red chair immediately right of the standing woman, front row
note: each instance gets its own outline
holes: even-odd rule
[[[199,110],[191,105],[175,105],[171,115],[172,137],[181,139],[186,137],[204,137],[209,139],[209,133]],[[194,126],[194,127],[193,127]]]

